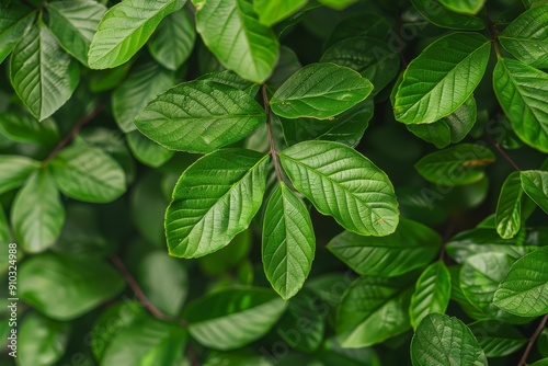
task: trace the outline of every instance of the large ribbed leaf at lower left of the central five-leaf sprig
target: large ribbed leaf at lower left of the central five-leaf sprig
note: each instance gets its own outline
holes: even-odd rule
[[[203,256],[246,230],[263,201],[269,161],[255,151],[222,149],[186,169],[165,213],[170,254]]]

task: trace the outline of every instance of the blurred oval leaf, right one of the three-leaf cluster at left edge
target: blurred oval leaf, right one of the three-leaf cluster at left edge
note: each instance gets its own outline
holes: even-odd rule
[[[83,141],[62,149],[50,165],[59,190],[69,197],[106,203],[126,192],[126,176],[116,160]]]

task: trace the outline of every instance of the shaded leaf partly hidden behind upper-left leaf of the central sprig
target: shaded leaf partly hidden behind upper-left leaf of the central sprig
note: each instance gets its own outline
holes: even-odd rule
[[[112,93],[112,112],[119,129],[126,134],[135,130],[135,117],[175,82],[175,75],[157,62],[144,62],[133,68]]]

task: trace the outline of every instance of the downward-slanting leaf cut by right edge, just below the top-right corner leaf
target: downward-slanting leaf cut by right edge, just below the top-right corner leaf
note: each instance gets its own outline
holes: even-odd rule
[[[493,88],[522,141],[548,152],[548,75],[500,57],[493,71]]]

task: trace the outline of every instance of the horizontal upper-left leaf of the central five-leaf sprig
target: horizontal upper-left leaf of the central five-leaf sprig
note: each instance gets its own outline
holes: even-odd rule
[[[264,110],[244,91],[192,81],[158,95],[135,125],[168,149],[210,152],[242,139],[265,121]]]

